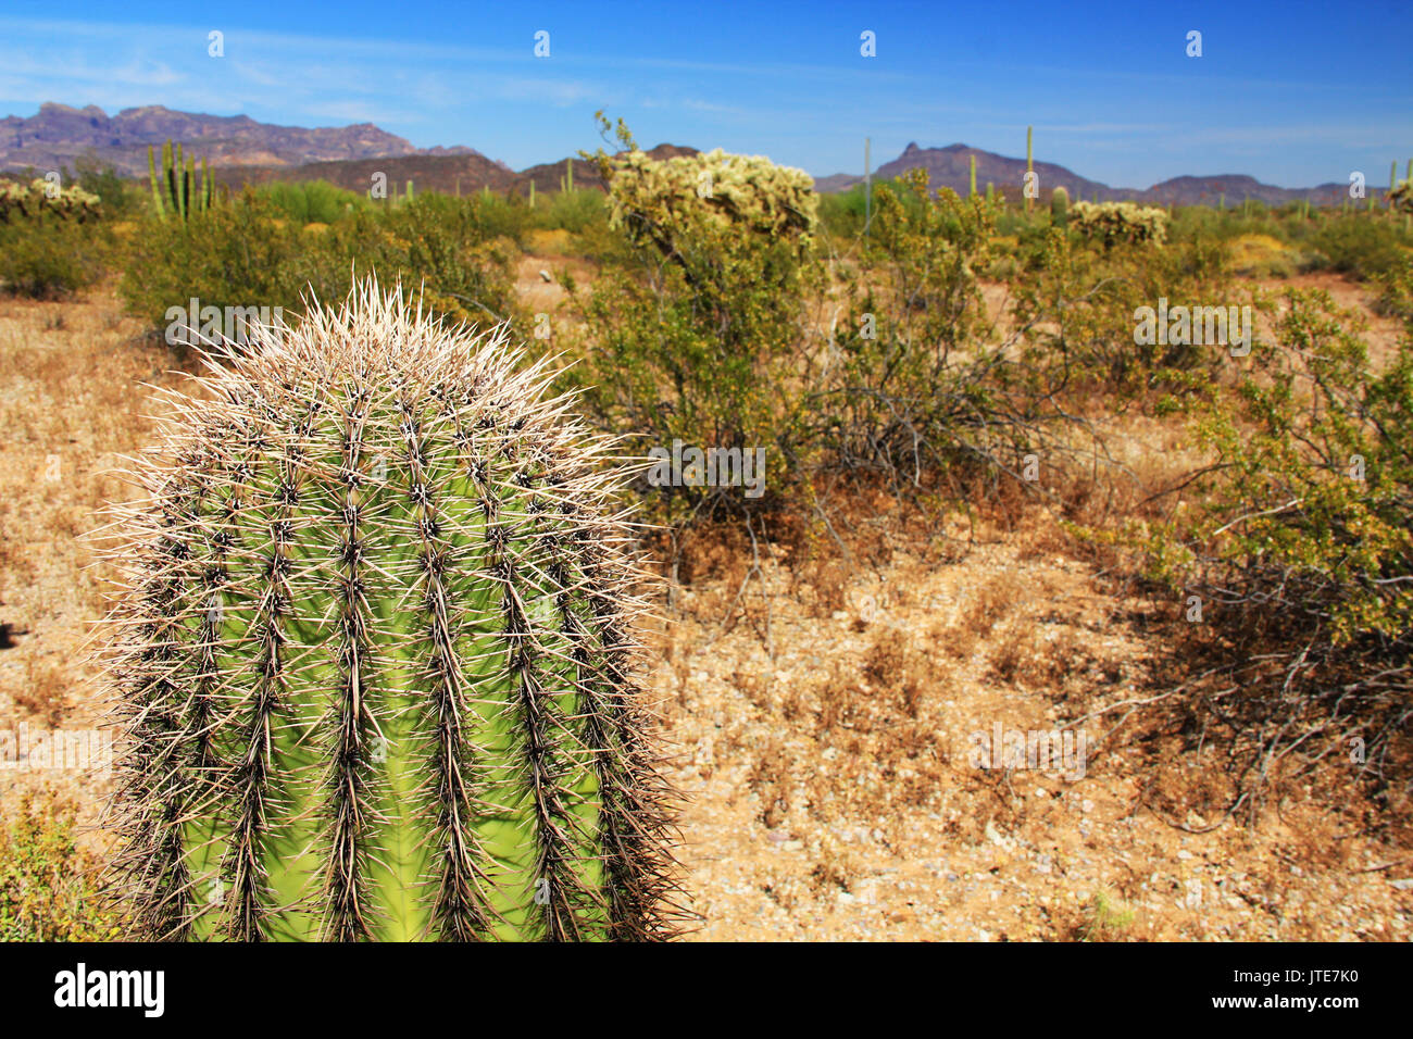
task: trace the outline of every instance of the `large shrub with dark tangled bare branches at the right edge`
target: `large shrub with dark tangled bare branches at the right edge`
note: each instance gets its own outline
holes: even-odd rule
[[[1150,553],[1202,604],[1178,710],[1194,738],[1228,732],[1229,810],[1286,766],[1328,761],[1392,793],[1410,777],[1413,342],[1375,373],[1356,315],[1317,291],[1286,305],[1200,410],[1200,519]]]

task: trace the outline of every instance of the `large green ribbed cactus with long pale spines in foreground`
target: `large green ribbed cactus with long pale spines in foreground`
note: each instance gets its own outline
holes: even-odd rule
[[[209,365],[110,556],[141,933],[671,937],[615,442],[372,281]]]

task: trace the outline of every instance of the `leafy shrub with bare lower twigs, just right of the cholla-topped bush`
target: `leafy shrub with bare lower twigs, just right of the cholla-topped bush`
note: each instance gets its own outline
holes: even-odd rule
[[[981,345],[989,328],[975,273],[999,204],[934,194],[926,171],[875,198],[869,236],[841,266],[845,307],[815,359],[810,435],[831,462],[904,483],[1002,461],[1002,444],[1009,468],[1024,438],[1002,418],[1015,406],[998,382],[1007,362],[1003,348]]]

